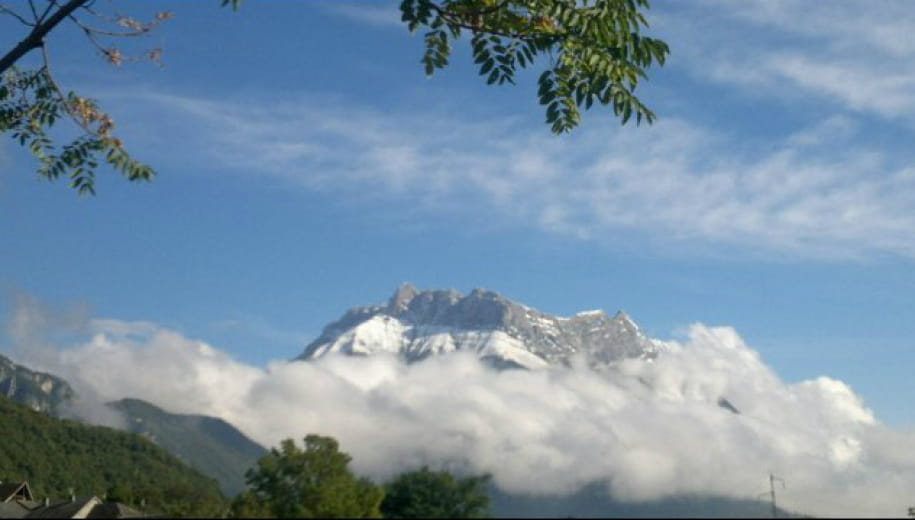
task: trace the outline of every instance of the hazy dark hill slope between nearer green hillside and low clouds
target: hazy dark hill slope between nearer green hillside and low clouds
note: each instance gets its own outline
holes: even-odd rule
[[[263,446],[222,419],[168,413],[139,399],[121,399],[110,406],[126,415],[130,431],[149,437],[215,478],[227,495],[245,490],[245,471],[267,454]]]

